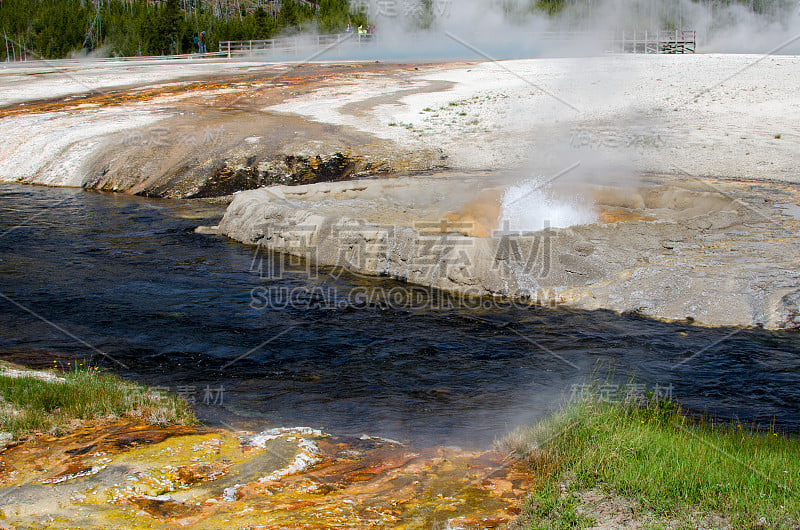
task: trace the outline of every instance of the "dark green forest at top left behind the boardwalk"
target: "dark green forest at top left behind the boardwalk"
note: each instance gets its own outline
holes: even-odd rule
[[[229,5],[234,7],[226,11],[186,0],[0,0],[0,60],[57,59],[97,49],[110,56],[191,53],[201,31],[208,51],[216,51],[224,40],[269,39],[309,28],[330,33],[348,22],[366,23],[347,0],[324,0],[318,12],[287,0],[274,14]]]

